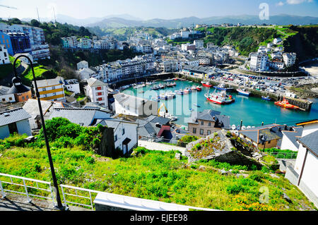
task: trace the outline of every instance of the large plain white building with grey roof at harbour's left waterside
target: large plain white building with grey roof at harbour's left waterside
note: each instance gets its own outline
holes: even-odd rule
[[[158,102],[119,93],[114,95],[116,114],[130,116],[158,116]]]

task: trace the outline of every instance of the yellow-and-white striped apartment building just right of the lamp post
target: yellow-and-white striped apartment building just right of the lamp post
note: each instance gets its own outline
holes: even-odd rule
[[[35,84],[33,82],[33,87]],[[60,77],[49,80],[37,80],[37,88],[41,100],[65,102],[64,83]]]

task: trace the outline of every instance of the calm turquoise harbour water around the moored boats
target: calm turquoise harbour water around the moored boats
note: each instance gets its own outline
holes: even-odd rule
[[[131,87],[123,92],[127,95],[151,99],[161,93],[175,92],[175,90],[191,87],[192,85],[199,85],[198,83],[190,83],[188,81],[177,80],[175,82],[177,83],[176,87],[167,87],[165,90],[151,90],[151,86],[146,86],[138,90]],[[158,83],[156,85],[158,85]],[[201,84],[199,86],[202,87]],[[191,109],[194,111],[204,111],[204,109],[220,111],[221,114],[230,116],[230,124],[235,124],[235,126],[240,125],[241,119],[245,126],[260,126],[262,122],[264,122],[264,124],[281,123],[295,125],[295,123],[299,121],[318,118],[318,99],[311,99],[314,102],[311,111],[294,111],[291,109],[283,109],[276,106],[274,102],[269,102],[258,97],[245,97],[237,95],[236,92],[230,92],[229,94],[235,98],[235,103],[218,105],[206,100],[204,95],[208,90],[213,92],[215,89],[202,87],[201,92],[192,92],[189,95],[183,96],[177,95],[175,99],[167,101],[161,100],[158,102],[158,105],[160,107],[160,105],[164,103],[168,112],[179,118],[175,123],[185,126],[187,126],[187,118],[191,116]],[[143,93],[141,93],[142,91]],[[200,107],[195,107],[194,104]],[[164,107],[161,110],[164,111]]]

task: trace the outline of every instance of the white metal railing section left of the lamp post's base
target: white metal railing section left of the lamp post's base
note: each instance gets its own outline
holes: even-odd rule
[[[5,181],[3,179],[4,177],[10,178],[10,182]],[[23,181],[23,184],[14,183],[13,182],[13,178],[16,179],[16,180]],[[33,183],[36,184],[36,186],[27,185],[27,183],[25,181],[33,182]],[[4,183],[8,184],[8,185],[13,185],[13,186],[24,187],[25,192],[19,192],[19,191],[16,191],[16,190],[5,189],[4,186],[3,186]],[[39,187],[39,183],[42,183],[45,186],[48,186],[48,188],[40,188]],[[50,197],[31,194],[31,193],[29,193],[28,188],[33,188],[33,189],[45,191],[45,192],[48,193],[48,196],[50,195]],[[11,193],[18,193],[18,194],[26,195],[28,197],[28,202],[31,202],[30,196],[33,196],[33,197],[45,198],[47,200],[52,200],[54,205],[56,205],[56,203],[54,201],[54,191],[53,191],[53,188],[51,186],[51,182],[48,182],[48,181],[39,181],[39,180],[31,179],[31,178],[25,178],[25,177],[22,177],[22,176],[13,176],[13,175],[9,175],[9,174],[1,174],[0,173],[0,190],[1,190],[1,195],[2,195],[3,198],[6,197],[6,192],[11,192]]]

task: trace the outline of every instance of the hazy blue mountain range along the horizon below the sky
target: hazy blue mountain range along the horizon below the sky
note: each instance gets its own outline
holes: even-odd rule
[[[23,20],[30,20],[25,18]],[[46,18],[40,18],[41,22],[50,21]],[[212,16],[208,18],[177,18],[177,19],[160,19],[153,18],[151,20],[142,20],[129,14],[110,15],[103,18],[91,17],[86,19],[77,19],[65,15],[57,15],[57,22],[69,23],[72,25],[83,25],[87,27],[100,27],[100,28],[124,28],[124,27],[154,27],[154,28],[182,28],[189,27],[196,24],[222,24],[222,23],[241,23],[244,25],[261,25],[261,24],[276,24],[276,25],[307,25],[318,24],[318,17],[312,16],[291,16],[286,14],[270,16],[269,20],[260,20],[259,16],[242,15],[242,16]]]

